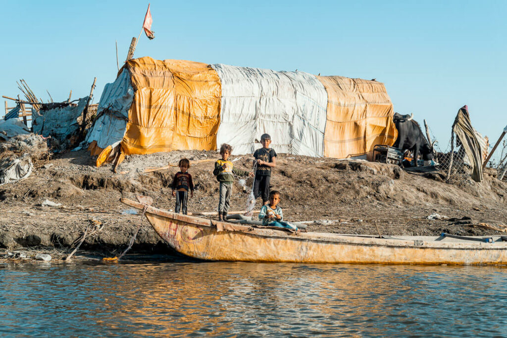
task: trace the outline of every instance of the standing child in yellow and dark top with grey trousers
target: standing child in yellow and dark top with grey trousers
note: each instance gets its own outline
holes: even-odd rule
[[[228,161],[229,156],[232,153],[232,146],[223,143],[220,146],[221,160],[215,162],[215,169],[213,175],[216,176],[216,180],[220,182],[220,199],[219,199],[219,220],[224,221],[229,212],[229,201],[232,193],[232,183],[234,182],[234,176],[247,176],[253,177],[251,172],[246,170],[234,169],[231,161]]]

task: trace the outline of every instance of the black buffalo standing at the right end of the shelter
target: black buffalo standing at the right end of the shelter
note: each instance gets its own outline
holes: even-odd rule
[[[394,147],[402,150],[409,149],[414,153],[414,164],[417,165],[419,153],[424,161],[433,159],[433,144],[429,144],[422,133],[419,124],[413,120],[414,115],[394,114],[393,121],[398,130],[398,138],[394,142]]]

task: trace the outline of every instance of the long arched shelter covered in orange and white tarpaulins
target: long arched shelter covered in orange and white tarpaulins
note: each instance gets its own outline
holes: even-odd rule
[[[115,154],[214,150],[249,154],[268,133],[278,153],[348,158],[392,145],[382,83],[301,71],[132,59],[106,85],[87,135],[97,165]]]

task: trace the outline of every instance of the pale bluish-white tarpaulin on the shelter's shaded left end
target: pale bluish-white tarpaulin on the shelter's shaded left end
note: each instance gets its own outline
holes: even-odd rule
[[[115,82],[105,85],[97,108],[98,119],[86,135],[86,144],[95,140],[103,149],[121,141],[133,97],[129,72],[124,69]]]

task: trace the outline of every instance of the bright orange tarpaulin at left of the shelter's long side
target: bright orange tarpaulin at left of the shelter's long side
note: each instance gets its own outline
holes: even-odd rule
[[[207,64],[185,60],[127,61],[134,88],[122,152],[214,150],[221,85]]]

